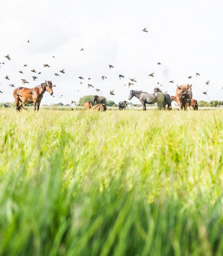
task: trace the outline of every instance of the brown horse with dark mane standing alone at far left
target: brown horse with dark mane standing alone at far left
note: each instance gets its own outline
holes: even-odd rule
[[[34,103],[34,110],[36,110],[36,108],[39,110],[40,102],[45,91],[48,91],[50,95],[53,95],[54,92],[52,86],[52,81],[45,81],[45,83],[31,89],[18,87],[13,91],[13,97],[16,101],[16,110],[20,111],[24,103]]]

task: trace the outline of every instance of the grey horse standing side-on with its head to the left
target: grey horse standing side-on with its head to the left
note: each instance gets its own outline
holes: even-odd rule
[[[163,108],[165,106],[164,105],[165,96],[164,96],[164,94],[161,94],[161,93],[148,94],[146,92],[131,90],[130,94],[128,96],[128,99],[131,100],[132,97],[134,97],[134,96],[140,100],[140,102],[142,104],[142,108],[145,111],[146,111],[146,107],[145,107],[146,103],[147,104],[157,103],[157,107],[159,110],[161,110],[161,108]]]

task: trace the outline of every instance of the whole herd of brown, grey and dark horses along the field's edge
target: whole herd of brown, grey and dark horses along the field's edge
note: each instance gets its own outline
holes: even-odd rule
[[[193,99],[193,94],[191,90],[192,85],[177,85],[176,96],[170,96],[167,93],[163,93],[159,88],[155,88],[153,93],[146,93],[142,91],[131,90],[128,99],[131,100],[133,97],[136,97],[140,100],[142,108],[146,110],[146,104],[157,103],[159,110],[171,110],[171,102],[174,100],[177,102],[179,110],[186,110],[187,107],[193,107],[194,110],[198,110],[198,102]],[[45,91],[48,91],[50,95],[53,95],[53,84],[52,81],[45,81],[41,85],[35,86],[31,89],[25,87],[18,87],[13,91],[13,97],[16,102],[16,109],[20,111],[24,107],[24,103],[33,103],[34,110],[39,110],[41,99]],[[93,103],[85,102],[84,109],[91,109],[95,111],[106,111],[106,99],[98,95],[94,95]],[[118,107],[120,110],[125,110],[128,105],[127,101],[119,102]]]

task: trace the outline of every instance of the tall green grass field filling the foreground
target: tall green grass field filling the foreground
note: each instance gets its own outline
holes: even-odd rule
[[[223,255],[223,111],[0,110],[0,255]]]

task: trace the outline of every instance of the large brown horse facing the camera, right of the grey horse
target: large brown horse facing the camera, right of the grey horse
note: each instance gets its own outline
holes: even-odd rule
[[[191,105],[191,99],[193,97],[191,86],[192,85],[188,85],[188,84],[180,85],[176,89],[177,103],[178,103],[179,109],[181,110],[183,109],[186,110],[188,103],[189,103],[189,107]]]

